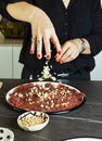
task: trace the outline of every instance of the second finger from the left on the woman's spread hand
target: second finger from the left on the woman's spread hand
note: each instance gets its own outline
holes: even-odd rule
[[[38,37],[37,38],[37,59],[41,59],[42,57],[42,38]]]

